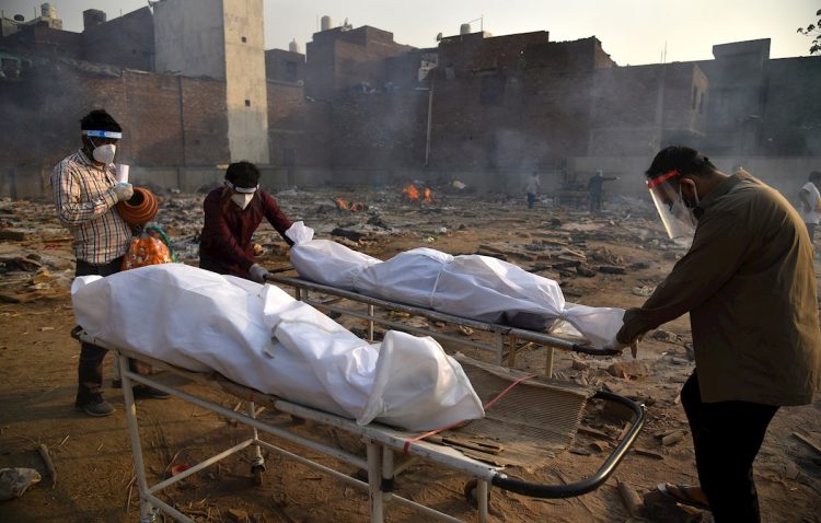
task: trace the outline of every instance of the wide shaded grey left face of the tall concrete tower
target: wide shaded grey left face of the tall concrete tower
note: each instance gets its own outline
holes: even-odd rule
[[[224,80],[222,15],[222,0],[163,0],[154,4],[155,70]]]

